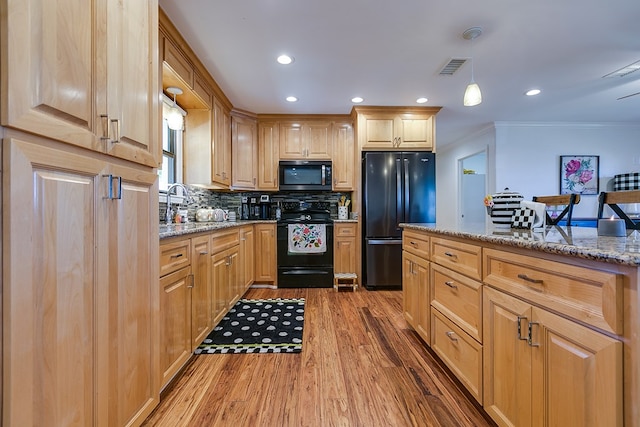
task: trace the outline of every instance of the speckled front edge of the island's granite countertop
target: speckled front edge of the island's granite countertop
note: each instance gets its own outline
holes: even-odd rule
[[[603,247],[608,247],[608,249],[598,248],[598,247],[587,247],[587,246],[578,246],[575,244],[562,244],[557,242],[547,242],[547,241],[535,241],[535,240],[526,240],[523,238],[517,238],[514,236],[504,236],[504,235],[493,235],[493,234],[484,234],[478,232],[471,231],[463,231],[463,230],[452,230],[445,228],[438,228],[435,224],[410,224],[410,223],[401,223],[400,227],[409,230],[417,230],[417,231],[426,231],[434,234],[440,234],[443,236],[451,236],[451,237],[459,237],[465,238],[469,240],[475,240],[478,242],[487,242],[487,243],[495,243],[505,246],[523,248],[523,249],[531,249],[539,252],[546,252],[550,254],[557,255],[566,255],[576,258],[582,258],[593,261],[601,261],[607,262],[611,264],[620,264],[620,265],[628,265],[632,267],[640,266],[640,254],[634,252],[627,251],[618,251],[611,248],[615,248],[616,246],[624,247],[624,242],[626,238],[622,237],[597,237],[596,244],[599,245],[602,243]],[[569,227],[569,228],[580,228],[580,227]],[[567,230],[567,227],[562,227],[563,230]],[[516,230],[513,230],[516,231]],[[593,240],[593,239],[592,239]],[[593,244],[594,242],[590,242]]]

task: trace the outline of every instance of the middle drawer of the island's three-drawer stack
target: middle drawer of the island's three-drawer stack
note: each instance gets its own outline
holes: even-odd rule
[[[482,342],[482,283],[431,265],[431,306]]]

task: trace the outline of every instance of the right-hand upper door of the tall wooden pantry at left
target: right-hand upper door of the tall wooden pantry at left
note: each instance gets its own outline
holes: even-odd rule
[[[110,131],[106,151],[155,167],[161,157],[156,143],[160,129],[158,4],[140,0],[106,3],[104,79]]]

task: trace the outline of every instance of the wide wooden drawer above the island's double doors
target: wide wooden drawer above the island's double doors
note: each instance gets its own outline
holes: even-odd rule
[[[588,325],[622,333],[623,276],[495,249],[484,282]]]

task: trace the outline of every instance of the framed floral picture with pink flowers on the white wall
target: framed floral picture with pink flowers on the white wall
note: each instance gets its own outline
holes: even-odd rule
[[[598,194],[600,156],[560,156],[560,194]]]

